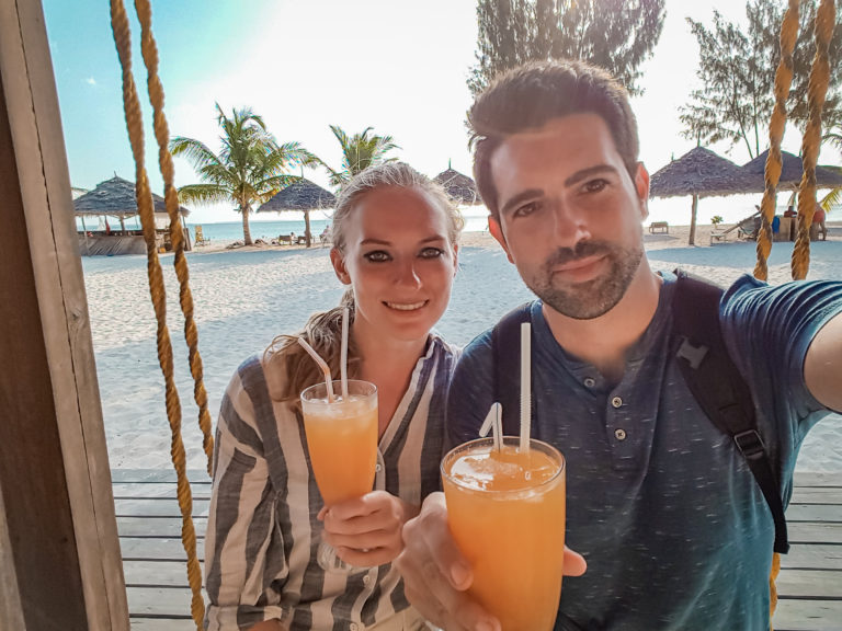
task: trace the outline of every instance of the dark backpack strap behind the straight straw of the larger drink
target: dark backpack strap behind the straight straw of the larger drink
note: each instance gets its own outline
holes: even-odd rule
[[[521,434],[521,388],[516,367],[521,365],[521,324],[531,322],[532,302],[525,302],[503,316],[491,331],[494,356],[494,401],[503,406],[503,435]],[[532,398],[532,420],[536,414],[535,397]]]

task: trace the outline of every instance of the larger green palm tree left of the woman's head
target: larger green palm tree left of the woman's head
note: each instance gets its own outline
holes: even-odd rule
[[[278,145],[263,118],[249,107],[231,110],[230,118],[218,103],[216,111],[223,129],[219,154],[193,138],[177,136],[170,141],[172,154],[184,156],[204,182],[179,188],[179,199],[185,204],[234,202],[235,210],[242,215],[243,242],[251,245],[252,206],[299,180],[286,173],[291,165],[311,164],[316,158],[298,142]]]

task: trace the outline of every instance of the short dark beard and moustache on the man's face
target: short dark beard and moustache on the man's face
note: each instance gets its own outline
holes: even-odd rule
[[[553,268],[585,256],[604,256],[607,273],[576,285],[553,283]],[[582,241],[574,249],[561,248],[550,255],[539,275],[524,278],[526,286],[562,316],[591,320],[611,311],[625,296],[644,257],[641,245],[623,248],[605,241]]]

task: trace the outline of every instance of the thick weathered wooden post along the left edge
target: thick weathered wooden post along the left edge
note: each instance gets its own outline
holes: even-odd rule
[[[0,0],[0,627],[125,631],[88,305],[37,1]]]

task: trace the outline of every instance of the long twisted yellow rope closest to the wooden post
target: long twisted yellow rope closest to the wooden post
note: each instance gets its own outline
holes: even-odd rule
[[[181,440],[181,402],[175,388],[172,369],[172,344],[167,329],[167,300],[163,286],[163,274],[155,243],[155,214],[152,196],[149,190],[146,169],[144,168],[144,127],[140,113],[140,102],[137,97],[135,81],[132,76],[132,36],[128,27],[123,0],[111,0],[111,28],[117,56],[123,68],[123,106],[126,113],[126,127],[135,160],[135,194],[144,230],[147,254],[147,276],[149,291],[158,322],[157,346],[158,363],[161,366],[166,383],[167,417],[172,432],[171,455],[178,477],[179,507],[182,514],[182,543],[187,555],[187,578],[193,593],[191,613],[197,631],[202,629],[204,618],[204,601],[202,600],[202,573],[196,558],[196,534],[193,528],[193,498],[190,483],[186,480],[184,445]]]

